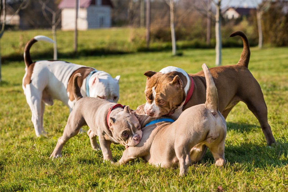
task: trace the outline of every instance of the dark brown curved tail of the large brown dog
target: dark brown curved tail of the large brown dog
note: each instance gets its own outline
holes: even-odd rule
[[[234,37],[239,35],[242,38],[243,41],[243,51],[240,57],[240,60],[238,61],[238,65],[243,65],[248,68],[249,60],[250,60],[250,46],[249,41],[242,31],[235,31],[232,33],[229,37]]]

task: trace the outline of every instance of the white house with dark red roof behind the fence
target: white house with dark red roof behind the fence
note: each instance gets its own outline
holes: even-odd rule
[[[111,0],[79,0],[77,28],[87,30],[90,28],[111,27]],[[58,6],[61,12],[61,29],[73,30],[75,28],[75,0],[62,0]]]

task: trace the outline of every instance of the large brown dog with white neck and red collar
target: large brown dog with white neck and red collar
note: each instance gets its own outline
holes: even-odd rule
[[[275,142],[267,119],[267,106],[261,87],[248,69],[250,59],[249,42],[246,35],[236,31],[230,35],[239,35],[243,40],[243,51],[236,65],[219,66],[210,69],[218,90],[219,111],[226,119],[232,108],[239,102],[245,102],[258,119],[267,144]],[[151,117],[179,115],[191,106],[205,102],[206,81],[204,72],[187,74],[183,69],[169,66],[160,72],[146,71],[145,111]]]

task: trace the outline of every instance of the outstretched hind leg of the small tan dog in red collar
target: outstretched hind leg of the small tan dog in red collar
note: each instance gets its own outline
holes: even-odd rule
[[[77,115],[77,114],[76,114]],[[67,124],[64,128],[63,135],[59,137],[57,145],[53,151],[53,153],[50,155],[51,157],[57,158],[61,157],[61,152],[62,149],[65,145],[65,143],[71,138],[74,137],[75,135],[78,134],[80,128],[85,124],[85,120],[83,118],[75,117],[75,114],[70,113],[68,117]]]

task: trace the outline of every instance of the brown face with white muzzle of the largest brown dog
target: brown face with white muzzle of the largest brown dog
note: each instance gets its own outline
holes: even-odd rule
[[[151,117],[171,115],[185,100],[183,82],[178,72],[146,71],[145,112]]]

